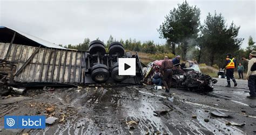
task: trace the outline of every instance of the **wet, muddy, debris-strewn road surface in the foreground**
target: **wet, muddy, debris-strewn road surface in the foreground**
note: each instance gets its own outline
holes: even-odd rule
[[[256,102],[246,99],[246,81],[239,81],[238,88],[223,84],[225,80],[219,79],[210,93],[173,88],[166,94],[153,86],[28,90],[23,96],[1,97],[0,134],[255,134]],[[213,116],[213,110],[230,117]],[[7,130],[5,115],[45,115],[58,120],[44,130]]]

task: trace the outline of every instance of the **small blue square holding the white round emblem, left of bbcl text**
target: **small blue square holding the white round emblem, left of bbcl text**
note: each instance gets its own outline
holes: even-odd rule
[[[17,116],[4,116],[4,129],[17,129],[18,117]]]

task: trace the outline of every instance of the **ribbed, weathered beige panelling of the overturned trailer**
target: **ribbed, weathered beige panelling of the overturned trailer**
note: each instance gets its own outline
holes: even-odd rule
[[[9,43],[0,43],[0,58],[4,58]],[[16,72],[37,50],[37,47],[12,44],[8,60],[17,66]],[[83,83],[86,52],[57,48],[40,48],[31,62],[15,76],[16,82]]]

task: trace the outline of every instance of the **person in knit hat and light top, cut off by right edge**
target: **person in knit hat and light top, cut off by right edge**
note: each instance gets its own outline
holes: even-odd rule
[[[252,65],[256,63],[256,51],[252,51],[249,55],[249,58],[250,60],[242,58],[248,62],[246,79],[248,80],[250,96],[247,96],[247,98],[256,99],[256,71],[251,71]]]

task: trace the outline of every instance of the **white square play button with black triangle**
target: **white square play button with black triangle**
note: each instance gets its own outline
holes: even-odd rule
[[[135,76],[136,58],[118,58],[118,75]]]

